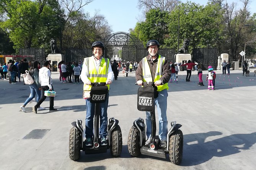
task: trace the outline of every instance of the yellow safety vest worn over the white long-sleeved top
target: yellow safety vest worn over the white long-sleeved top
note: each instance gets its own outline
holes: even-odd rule
[[[87,66],[86,73],[88,74],[87,77],[92,83],[96,82],[106,82],[108,79],[108,66],[109,66],[109,59],[108,58],[102,58],[101,59],[101,65],[99,66],[99,70],[97,72],[97,69],[94,64],[94,57],[88,57],[85,58],[85,64]],[[90,68],[90,69],[89,69]],[[108,90],[109,90],[109,84]],[[91,85],[83,84],[83,90],[91,90]]]

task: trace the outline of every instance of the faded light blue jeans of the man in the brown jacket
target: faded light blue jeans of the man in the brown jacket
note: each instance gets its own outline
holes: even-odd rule
[[[158,119],[159,119],[159,132],[158,136],[160,140],[167,139],[168,133],[168,121],[166,116],[167,110],[167,90],[158,91],[158,98],[155,98],[155,105],[157,106]],[[146,112],[146,125],[147,125],[147,137],[151,136],[151,116],[150,112]]]

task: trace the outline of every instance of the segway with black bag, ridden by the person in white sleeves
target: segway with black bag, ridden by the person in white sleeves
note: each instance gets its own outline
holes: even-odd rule
[[[83,126],[82,120],[77,120],[72,122],[72,128],[69,133],[69,158],[71,160],[78,160],[80,157],[80,152],[84,151],[85,154],[99,154],[107,152],[110,149],[112,156],[119,156],[122,152],[122,132],[118,125],[118,120],[114,117],[110,118],[108,121],[108,136],[107,145],[100,145],[99,137],[99,103],[106,101],[106,96],[108,94],[108,87],[106,83],[92,83],[90,92],[90,102],[95,104],[95,114],[94,114],[94,135],[93,135],[93,145],[86,146],[85,141],[83,141]]]

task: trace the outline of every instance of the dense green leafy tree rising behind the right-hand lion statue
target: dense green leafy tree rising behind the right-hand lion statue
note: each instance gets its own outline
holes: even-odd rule
[[[181,3],[179,9],[175,8],[170,13],[168,36],[165,38],[164,47],[176,48],[178,45],[178,13],[180,10],[179,38],[190,39],[189,51],[197,47],[217,47],[221,40],[222,20],[221,6],[208,3],[205,7],[196,3]]]

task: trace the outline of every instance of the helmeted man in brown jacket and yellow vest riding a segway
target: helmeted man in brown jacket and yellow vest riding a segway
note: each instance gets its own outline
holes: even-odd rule
[[[157,106],[158,119],[159,119],[159,138],[161,140],[160,147],[166,147],[166,136],[168,132],[168,121],[166,116],[167,110],[167,90],[168,81],[171,76],[170,64],[167,59],[157,53],[160,45],[157,40],[150,40],[147,42],[148,56],[143,58],[136,70],[136,81],[138,85],[143,82],[155,82],[158,91],[158,97],[155,98],[155,105]],[[151,75],[144,76],[144,75]],[[151,117],[150,112],[146,111],[146,124],[147,124],[147,141],[145,145],[150,144],[151,138]]]

